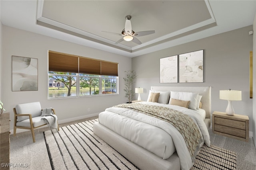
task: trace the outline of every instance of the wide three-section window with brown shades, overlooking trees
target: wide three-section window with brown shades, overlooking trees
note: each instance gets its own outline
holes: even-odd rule
[[[118,63],[49,51],[48,66],[48,98],[118,93]]]

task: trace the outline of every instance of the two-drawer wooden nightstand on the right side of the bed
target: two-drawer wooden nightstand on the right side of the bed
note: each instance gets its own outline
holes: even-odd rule
[[[249,117],[236,114],[230,116],[224,112],[214,111],[212,113],[212,132],[248,142]]]

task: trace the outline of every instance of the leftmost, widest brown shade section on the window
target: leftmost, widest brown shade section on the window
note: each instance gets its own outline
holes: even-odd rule
[[[78,73],[78,59],[77,56],[49,51],[49,71]]]

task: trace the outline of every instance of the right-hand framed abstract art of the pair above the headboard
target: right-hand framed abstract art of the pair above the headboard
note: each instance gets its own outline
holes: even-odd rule
[[[179,82],[204,82],[204,50],[179,55]]]

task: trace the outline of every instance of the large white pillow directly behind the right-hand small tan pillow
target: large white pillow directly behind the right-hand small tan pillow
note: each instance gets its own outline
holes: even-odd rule
[[[170,101],[172,99],[185,100],[185,101],[189,100],[190,103],[188,105],[188,108],[196,110],[197,98],[198,98],[198,93],[192,93],[192,92],[173,92],[173,91],[171,91],[169,104],[170,104]]]

